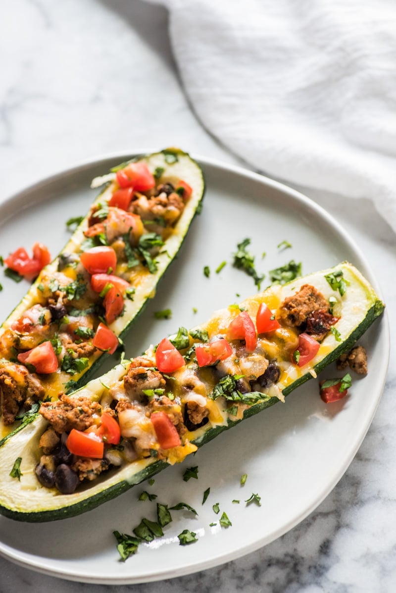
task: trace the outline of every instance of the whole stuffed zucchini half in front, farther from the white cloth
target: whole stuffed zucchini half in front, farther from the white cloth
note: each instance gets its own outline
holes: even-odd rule
[[[148,479],[316,377],[384,305],[349,263],[273,285],[43,403],[0,447],[0,512],[78,515]]]

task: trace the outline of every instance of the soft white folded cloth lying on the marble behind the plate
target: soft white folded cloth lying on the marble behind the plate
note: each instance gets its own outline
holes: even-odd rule
[[[394,0],[154,0],[203,125],[254,168],[368,197],[396,231]]]

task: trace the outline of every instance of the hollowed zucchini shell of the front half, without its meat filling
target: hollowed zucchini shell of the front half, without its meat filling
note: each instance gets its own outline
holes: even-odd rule
[[[337,281],[331,286],[326,278],[327,276],[330,279],[340,279],[341,272],[344,287],[346,286],[345,292],[341,291],[344,292],[343,295],[340,294],[337,288]],[[336,276],[331,276],[334,273]],[[246,299],[241,303],[240,308],[248,311],[251,318],[256,317],[258,307],[262,302],[271,310],[279,311],[280,304],[284,302],[285,298],[296,294],[305,284],[314,286],[327,301],[330,299],[333,304],[333,313],[339,318],[336,323],[337,331],[334,331],[334,333],[328,331],[320,343],[317,355],[308,364],[299,367],[292,362],[290,353],[287,356],[280,354],[280,343],[282,339],[285,339],[286,335],[283,331],[284,328],[280,330],[277,337],[276,332],[275,337],[270,336],[270,334],[264,336],[264,338],[259,336],[260,352],[263,352],[264,349],[265,356],[268,359],[276,358],[282,372],[278,382],[262,388],[260,392],[254,391],[256,400],[253,398],[253,403],[244,404],[240,407],[238,403],[238,409],[235,410],[234,403],[232,407],[229,407],[224,397],[218,397],[215,400],[207,398],[209,422],[200,426],[200,428],[191,429],[190,432],[187,432],[187,439],[184,444],[181,447],[170,449],[168,457],[162,460],[157,460],[155,457],[139,458],[136,461],[123,464],[119,468],[108,470],[94,482],[89,482],[81,489],[68,495],[61,494],[55,488],[43,487],[37,481],[35,468],[40,459],[39,440],[47,428],[47,420],[39,416],[22,431],[18,432],[14,438],[5,441],[0,446],[0,513],[20,521],[50,521],[81,514],[106,502],[106,500],[120,495],[131,486],[154,476],[154,474],[170,464],[182,461],[187,454],[196,450],[197,447],[202,447],[206,442],[215,438],[222,431],[237,425],[241,420],[261,412],[261,410],[272,406],[277,401],[284,401],[284,397],[292,390],[312,377],[316,377],[318,372],[335,361],[341,353],[349,351],[356,340],[362,336],[384,310],[384,304],[376,296],[369,282],[363,278],[352,264],[346,262],[338,264],[332,269],[322,270],[305,276],[305,278],[293,280],[292,283],[287,285],[271,286],[266,291]],[[200,333],[197,334],[196,330],[190,330],[190,345],[193,342],[191,336],[193,335],[194,339],[197,339],[197,335],[203,335],[202,330],[204,334],[206,331],[209,337],[226,334],[226,328],[238,313],[239,310],[235,311],[235,305],[216,312],[206,324],[200,326]],[[206,340],[203,339],[203,341]],[[244,348],[243,343],[238,347],[239,350],[235,350],[235,352],[238,352],[239,356],[241,348]],[[181,352],[186,355],[186,343],[184,343],[183,348],[184,350],[181,350]],[[151,347],[146,351],[146,355],[152,358],[155,356],[153,352],[154,350]],[[243,356],[248,355],[242,354],[241,359]],[[280,356],[280,358],[277,358],[277,356]],[[235,359],[234,362],[240,363],[239,359]],[[101,401],[103,405],[106,405],[108,388],[126,375],[129,364],[130,361],[123,361],[122,364],[111,369],[103,377],[90,381],[85,387],[75,392],[72,397],[84,395],[90,397],[91,400]],[[197,369],[197,365],[194,366],[191,363],[189,367],[189,364],[187,362],[184,369],[188,370],[190,367]],[[209,393],[219,384],[219,382],[216,383],[219,379],[213,367],[204,367],[204,369],[206,369],[206,375],[212,377],[205,379],[205,381],[209,381],[208,384],[212,381],[210,388],[208,388],[207,393]],[[203,369],[198,369],[196,372],[202,371]],[[172,385],[178,381],[181,384],[180,377],[182,375],[177,375],[177,372],[174,374]],[[213,382],[215,375],[217,378]],[[177,385],[174,388],[176,394],[182,393],[181,390],[177,392]],[[247,393],[246,396],[248,398],[253,397],[252,393]],[[182,396],[181,399],[183,400]],[[183,401],[181,405],[183,405]],[[10,476],[15,460],[18,458],[20,458],[20,479]]]

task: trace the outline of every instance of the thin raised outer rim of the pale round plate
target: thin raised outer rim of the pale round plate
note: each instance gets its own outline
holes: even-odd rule
[[[84,160],[79,162],[79,164],[72,165],[66,169],[59,169],[55,172],[47,175],[46,177],[40,178],[39,180],[30,183],[28,186],[23,187],[22,189],[18,190],[17,192],[13,193],[11,196],[6,197],[0,201],[0,209],[8,208],[15,200],[23,200],[24,196],[27,196],[30,192],[35,192],[40,189],[40,187],[46,186],[49,183],[54,183],[56,181],[61,180],[64,177],[72,177],[74,174],[82,173],[84,170],[90,170],[90,168],[98,167],[101,163],[106,164],[108,161],[119,161],[123,162],[132,158],[133,156],[140,155],[140,154],[149,154],[150,152],[159,152],[148,150],[139,150],[139,151],[128,151],[128,152],[111,152],[107,154],[101,154],[97,157],[90,158],[88,160]],[[221,170],[222,173],[233,173],[237,174],[237,176],[241,176],[244,178],[249,178],[252,181],[256,181],[257,183],[261,184],[263,187],[271,187],[281,193],[285,193],[289,197],[291,197],[296,202],[304,204],[306,208],[310,211],[314,211],[314,213],[330,225],[331,228],[338,234],[341,235],[344,243],[347,244],[347,247],[355,253],[357,259],[363,264],[365,267],[365,276],[368,277],[369,281],[371,282],[373,288],[377,292],[379,298],[383,299],[381,287],[378,284],[378,280],[372,271],[371,265],[366,260],[362,250],[356,244],[356,242],[350,237],[347,231],[344,229],[343,225],[340,225],[336,218],[327,212],[322,206],[318,205],[313,199],[306,196],[304,193],[299,192],[298,190],[289,187],[287,184],[282,183],[281,181],[274,180],[270,177],[267,177],[261,173],[256,173],[255,171],[251,171],[241,165],[235,165],[232,163],[224,162],[222,160],[205,157],[200,154],[190,153],[191,157],[194,158],[203,168],[203,173],[205,177],[205,167],[215,167],[218,170]],[[8,217],[7,217],[8,218]],[[7,220],[7,219],[6,219]],[[254,540],[250,544],[247,544],[243,547],[243,549],[237,549],[231,552],[227,552],[222,554],[221,556],[216,556],[213,559],[206,559],[200,560],[198,563],[194,564],[194,566],[186,565],[183,568],[178,569],[170,569],[170,570],[161,570],[161,572],[152,572],[151,575],[146,576],[144,578],[141,577],[126,577],[120,576],[120,578],[114,578],[114,576],[108,578],[95,578],[94,576],[87,576],[84,573],[75,573],[72,572],[71,569],[65,569],[64,567],[60,568],[47,568],[46,566],[42,566],[39,564],[39,561],[33,561],[33,559],[25,559],[21,558],[20,554],[15,553],[15,548],[8,546],[7,544],[3,544],[0,541],[0,556],[4,557],[5,559],[11,560],[12,562],[16,563],[19,566],[23,566],[23,568],[27,568],[30,570],[34,570],[35,572],[39,572],[44,575],[48,576],[55,576],[57,578],[65,578],[69,581],[75,582],[85,582],[88,584],[103,584],[103,585],[127,585],[127,584],[138,584],[143,582],[155,582],[161,581],[162,579],[170,579],[170,578],[177,578],[178,576],[185,576],[189,574],[193,574],[199,572],[201,570],[207,570],[210,568],[214,568],[215,566],[222,565],[226,562],[231,562],[232,560],[236,560],[246,554],[250,554],[253,551],[260,549],[263,546],[271,543],[272,541],[276,540],[277,538],[281,537],[285,533],[288,533],[293,527],[296,527],[301,521],[304,521],[315,508],[317,508],[321,502],[330,494],[330,492],[334,489],[336,484],[339,482],[343,474],[346,472],[347,468],[352,463],[355,455],[365,438],[373,417],[375,415],[376,409],[379,405],[379,401],[381,400],[382,393],[384,391],[384,385],[387,380],[387,372],[388,372],[388,365],[389,365],[389,355],[390,355],[390,331],[389,331],[389,320],[388,320],[388,313],[387,309],[385,308],[384,315],[382,318],[381,323],[383,324],[382,332],[383,336],[382,339],[384,340],[383,347],[387,356],[382,360],[382,367],[381,367],[381,386],[379,387],[379,394],[376,398],[375,406],[373,406],[371,410],[371,415],[366,418],[365,425],[362,428],[362,431],[356,435],[354,439],[354,445],[350,448],[350,455],[344,460],[344,463],[338,468],[338,471],[333,474],[333,479],[327,484],[326,487],[322,490],[322,492],[317,496],[317,498],[312,501],[311,505],[308,508],[305,508],[303,512],[298,514],[296,517],[291,519],[288,524],[282,525],[278,528],[274,533],[267,535],[258,540]],[[24,553],[25,554],[25,553]],[[38,557],[39,558],[39,557]],[[40,557],[40,560],[43,560],[43,557]]]

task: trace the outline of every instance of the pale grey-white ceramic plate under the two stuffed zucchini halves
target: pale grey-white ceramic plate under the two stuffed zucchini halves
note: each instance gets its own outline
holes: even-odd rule
[[[60,173],[0,206],[0,253],[30,247],[41,240],[56,254],[68,238],[65,221],[84,214],[95,193],[91,178],[126,160],[118,155]],[[257,269],[268,272],[290,259],[302,262],[303,273],[349,260],[378,289],[359,249],[336,221],[315,203],[279,183],[240,168],[200,159],[207,193],[202,215],[193,222],[180,256],[165,275],[152,301],[126,340],[127,355],[138,355],[180,324],[192,327],[213,310],[256,292],[253,280],[231,265],[237,243],[250,237]],[[287,240],[292,248],[280,250]],[[266,256],[262,258],[263,251]],[[223,261],[227,265],[216,274]],[[203,275],[209,265],[210,278]],[[1,278],[2,317],[23,296],[27,283]],[[263,286],[266,286],[264,280]],[[237,297],[236,294],[240,297]],[[170,307],[168,321],[154,311]],[[193,313],[193,307],[197,313]],[[349,466],[382,394],[387,373],[389,335],[386,317],[376,321],[361,340],[369,355],[369,372],[356,380],[350,396],[326,406],[317,381],[223,433],[181,466],[168,468],[153,486],[143,483],[80,517],[46,524],[24,524],[0,517],[0,553],[20,565],[66,579],[126,584],[185,575],[219,565],[273,541],[304,519],[330,492]],[[108,368],[107,364],[105,368]],[[104,368],[102,369],[104,371]],[[335,369],[326,372],[334,376]],[[336,375],[336,376],[339,376]],[[198,480],[183,482],[186,467],[199,467]],[[243,487],[239,480],[247,473]],[[202,505],[203,492],[210,495]],[[170,506],[184,501],[197,509],[173,511],[165,537],[140,546],[139,553],[119,562],[113,530],[132,533],[142,517],[155,519],[155,502],[138,502],[142,490]],[[252,493],[261,506],[245,505]],[[232,503],[239,499],[239,504]],[[232,527],[218,522],[212,505],[219,502]],[[197,543],[179,546],[177,534],[196,532]]]

